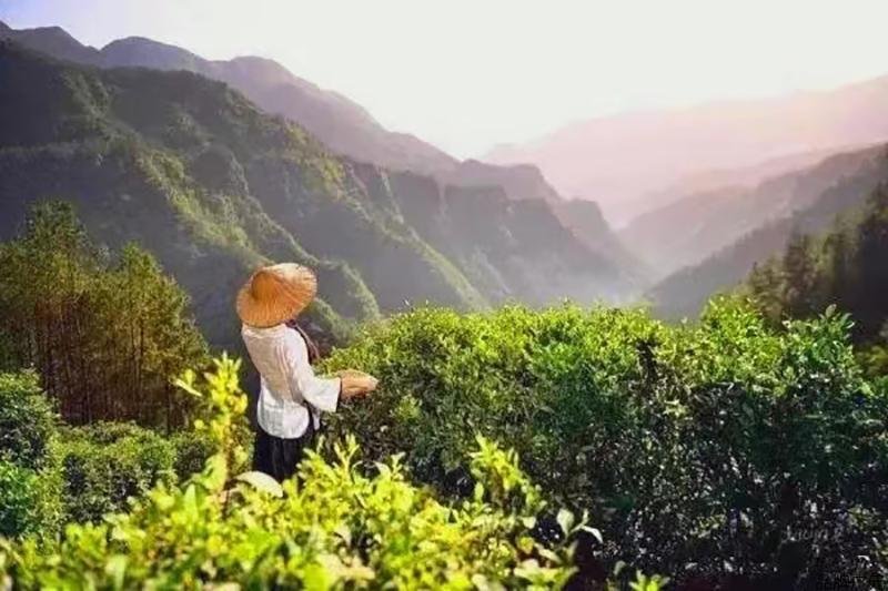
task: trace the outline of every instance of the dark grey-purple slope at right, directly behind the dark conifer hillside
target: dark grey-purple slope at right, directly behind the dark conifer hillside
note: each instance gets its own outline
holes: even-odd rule
[[[860,207],[879,183],[888,180],[888,155],[885,149],[878,149],[848,154],[846,157],[858,162],[856,170],[835,179],[830,186],[813,198],[810,193],[807,194],[807,205],[787,217],[767,223],[702,263],[685,267],[658,283],[648,293],[656,314],[666,318],[695,316],[708,297],[739,284],[757,263],[767,262],[783,252],[794,235],[821,232],[838,215]],[[817,183],[816,177],[807,181]]]

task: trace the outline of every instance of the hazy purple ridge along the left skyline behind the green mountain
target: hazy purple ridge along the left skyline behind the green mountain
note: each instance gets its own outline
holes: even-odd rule
[[[557,201],[557,192],[534,166],[460,162],[431,144],[384,129],[345,96],[293,75],[278,62],[245,57],[210,61],[182,48],[141,37],[112,41],[101,50],[79,43],[62,29],[0,30],[29,49],[79,63],[188,70],[221,80],[270,113],[292,119],[336,153],[393,171],[433,175],[445,184],[500,185],[511,198]]]

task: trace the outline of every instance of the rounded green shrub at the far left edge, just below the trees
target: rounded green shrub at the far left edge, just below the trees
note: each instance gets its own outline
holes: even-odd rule
[[[56,432],[56,414],[37,374],[0,374],[0,460],[40,469]]]

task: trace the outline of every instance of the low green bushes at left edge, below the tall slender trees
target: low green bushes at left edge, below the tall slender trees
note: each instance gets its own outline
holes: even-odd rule
[[[214,450],[194,431],[65,426],[36,374],[0,374],[0,536],[51,539],[64,523],[99,522],[130,497],[199,471]]]

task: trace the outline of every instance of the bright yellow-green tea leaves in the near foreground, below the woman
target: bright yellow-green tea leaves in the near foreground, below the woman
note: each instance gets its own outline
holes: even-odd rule
[[[333,462],[310,454],[299,481],[231,478],[226,459],[239,455],[233,421],[244,398],[236,371],[234,361],[218,361],[205,376],[210,393],[193,377],[182,381],[212,407],[206,428],[223,446],[201,475],[182,487],[161,482],[129,512],[70,526],[43,549],[0,542],[0,581],[6,575],[17,589],[548,589],[567,581],[569,550],[528,536],[538,492],[514,456],[486,441],[473,470],[496,492],[487,499],[478,488],[454,506],[410,485],[398,457],[364,476],[353,437],[334,446]]]

